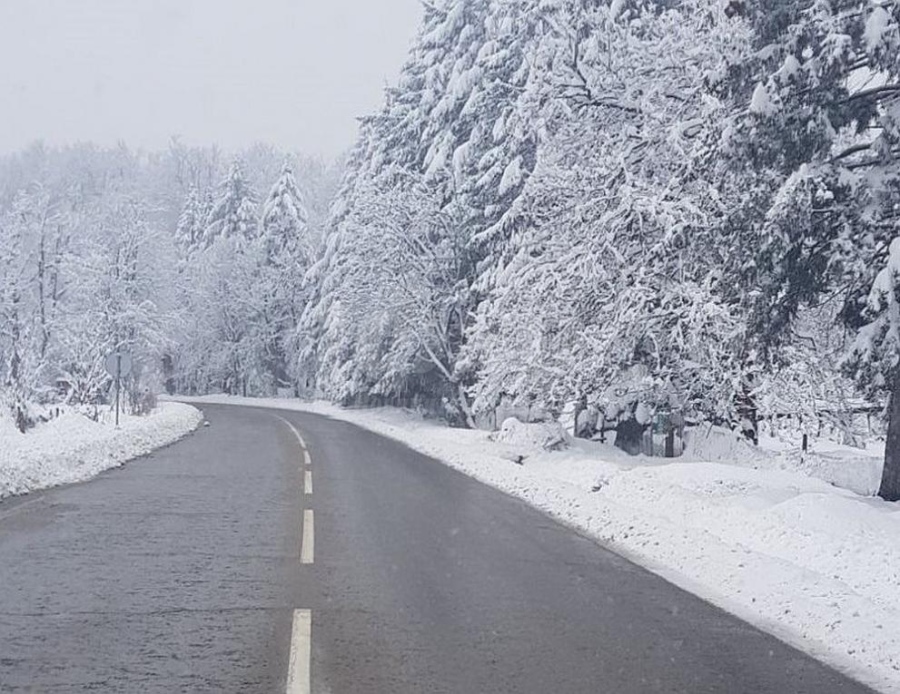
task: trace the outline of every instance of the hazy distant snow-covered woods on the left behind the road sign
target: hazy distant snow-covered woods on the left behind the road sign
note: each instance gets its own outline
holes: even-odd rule
[[[288,332],[338,176],[264,145],[177,140],[0,159],[4,415],[27,431],[56,404],[92,412],[116,351],[134,355],[133,407],[162,390],[299,393]]]

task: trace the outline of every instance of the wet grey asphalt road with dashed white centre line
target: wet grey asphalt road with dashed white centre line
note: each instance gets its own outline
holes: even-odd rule
[[[0,503],[0,691],[870,691],[400,444],[204,410]]]

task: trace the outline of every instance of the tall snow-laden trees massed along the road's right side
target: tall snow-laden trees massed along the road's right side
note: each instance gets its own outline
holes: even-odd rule
[[[452,0],[366,118],[317,385],[754,426],[900,408],[891,0]],[[900,496],[900,417],[882,495]]]

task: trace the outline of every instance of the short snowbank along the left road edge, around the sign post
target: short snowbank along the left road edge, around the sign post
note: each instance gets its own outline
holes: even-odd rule
[[[195,407],[165,402],[116,429],[68,412],[27,434],[0,431],[0,499],[80,482],[173,443],[203,420]]]

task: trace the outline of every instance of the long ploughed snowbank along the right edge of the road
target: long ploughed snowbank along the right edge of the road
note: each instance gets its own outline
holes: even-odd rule
[[[393,409],[184,400],[324,414],[402,441],[867,684],[900,693],[900,505],[771,464],[631,458],[581,441],[547,453]],[[521,455],[524,465],[514,463]],[[870,467],[859,474],[871,475]]]

